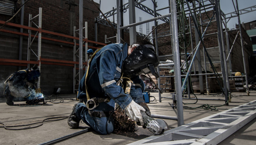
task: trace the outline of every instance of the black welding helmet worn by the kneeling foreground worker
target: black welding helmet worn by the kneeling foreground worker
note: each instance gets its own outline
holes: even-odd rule
[[[140,74],[152,73],[156,78],[159,78],[155,67],[159,65],[159,58],[154,52],[154,46],[150,44],[137,45],[130,55],[125,59],[122,65],[123,75],[132,78]]]

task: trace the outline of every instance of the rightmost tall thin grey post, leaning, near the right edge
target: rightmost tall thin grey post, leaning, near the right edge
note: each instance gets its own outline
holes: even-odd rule
[[[241,49],[242,49],[242,56],[243,56],[243,63],[244,63],[244,73],[245,73],[245,81],[246,81],[246,91],[247,95],[249,96],[249,87],[248,87],[248,78],[247,78],[247,70],[244,60],[244,41],[243,41],[243,35],[242,35],[242,29],[241,29],[241,22],[240,22],[240,15],[239,15],[239,9],[238,9],[238,3],[236,0],[236,9],[237,9],[237,17],[238,17],[238,25],[239,25],[239,31],[240,31],[240,40],[241,40]]]

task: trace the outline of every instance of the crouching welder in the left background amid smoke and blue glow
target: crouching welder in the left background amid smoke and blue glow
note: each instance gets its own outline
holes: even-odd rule
[[[40,71],[37,67],[19,70],[11,74],[4,83],[3,94],[7,99],[6,104],[13,105],[13,101],[26,101],[26,104],[33,104],[31,100],[41,102],[42,94],[35,92],[35,83],[37,83],[39,76]]]

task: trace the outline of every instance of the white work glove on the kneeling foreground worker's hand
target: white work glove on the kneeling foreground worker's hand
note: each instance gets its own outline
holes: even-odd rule
[[[140,111],[145,112],[146,110],[142,106],[140,106],[139,104],[137,104],[132,100],[131,103],[128,104],[128,106],[125,108],[125,110],[126,110],[126,115],[130,119],[134,119],[136,122],[140,122],[140,125],[142,126],[144,125]]]

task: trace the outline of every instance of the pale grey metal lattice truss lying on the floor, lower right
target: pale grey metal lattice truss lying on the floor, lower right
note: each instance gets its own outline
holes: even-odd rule
[[[217,145],[256,118],[256,100],[129,145]]]

